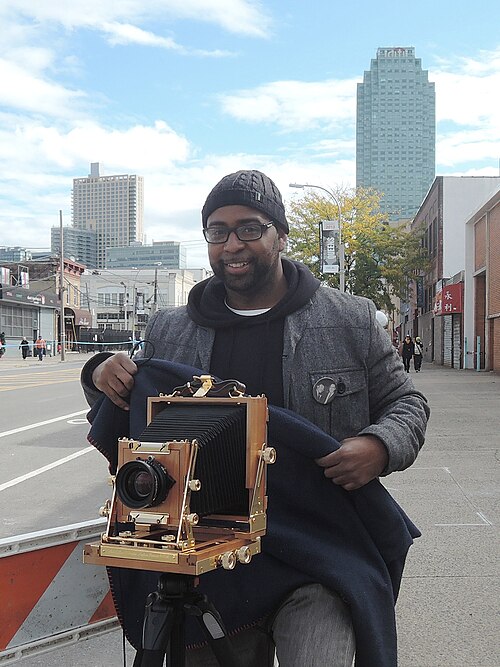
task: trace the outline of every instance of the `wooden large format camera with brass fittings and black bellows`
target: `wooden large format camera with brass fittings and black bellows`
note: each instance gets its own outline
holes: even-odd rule
[[[197,576],[260,551],[266,531],[267,400],[211,376],[149,397],[147,427],[118,440],[106,532],[84,561]]]

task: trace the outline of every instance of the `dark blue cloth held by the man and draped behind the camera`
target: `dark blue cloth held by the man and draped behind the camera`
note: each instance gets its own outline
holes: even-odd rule
[[[170,393],[200,375],[168,361],[139,361],[130,412],[107,398],[89,413],[89,441],[116,468],[119,437],[138,437],[146,427],[148,396]],[[394,603],[404,561],[420,535],[387,490],[374,480],[346,492],[326,479],[314,459],[339,443],[314,424],[282,408],[269,408],[269,444],[277,461],[268,467],[268,530],[263,553],[233,571],[200,578],[229,632],[271,613],[292,590],[319,582],[349,605],[356,633],[356,667],[396,667]],[[130,418],[130,423],[129,423]],[[109,568],[118,616],[133,646],[140,647],[143,611],[158,574]],[[188,643],[204,641],[188,619]]]

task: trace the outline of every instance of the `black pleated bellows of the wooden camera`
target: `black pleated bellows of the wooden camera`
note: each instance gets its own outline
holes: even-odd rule
[[[196,478],[201,490],[191,495],[191,511],[200,517],[248,511],[245,489],[246,405],[170,403],[140,440],[197,440]]]

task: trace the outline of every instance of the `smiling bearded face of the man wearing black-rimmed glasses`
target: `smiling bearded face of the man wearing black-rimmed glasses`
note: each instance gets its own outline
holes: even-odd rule
[[[207,228],[234,230],[253,223],[265,225],[270,220],[264,213],[248,206],[223,206],[207,220]],[[240,241],[230,234],[225,243],[208,244],[208,258],[214,274],[220,278],[228,292],[241,295],[272,290],[280,278],[280,251],[284,250],[286,235],[273,225],[262,230],[256,241]]]

